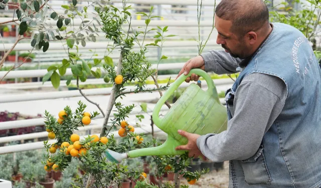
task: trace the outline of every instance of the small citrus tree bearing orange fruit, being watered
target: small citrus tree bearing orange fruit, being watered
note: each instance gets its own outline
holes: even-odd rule
[[[151,69],[151,64],[146,60],[145,54],[148,51],[148,46],[156,46],[163,48],[163,44],[167,38],[173,37],[173,35],[166,35],[168,27],[157,27],[159,31],[154,36],[155,41],[150,44],[145,44],[145,36],[147,33],[157,30],[156,28],[147,30],[149,23],[157,16],[152,16],[152,7],[150,13],[136,13],[141,14],[146,18],[145,29],[143,32],[139,32],[130,27],[131,14],[129,13],[130,6],[126,5],[123,1],[123,7],[121,10],[109,5],[103,8],[95,8],[99,21],[101,22],[101,30],[105,33],[107,39],[113,42],[113,49],[120,49],[119,61],[116,65],[112,62],[111,58],[105,56],[104,60],[96,59],[94,64],[86,62],[81,59],[78,53],[70,55],[69,60],[65,59],[61,66],[71,67],[73,75],[68,79],[77,79],[77,86],[79,88],[79,82],[85,82],[88,75],[100,75],[101,70],[106,72],[104,80],[107,83],[112,83],[112,92],[109,95],[109,101],[106,112],[104,114],[103,127],[98,136],[88,136],[81,139],[79,135],[74,134],[75,130],[78,130],[79,126],[86,126],[91,123],[91,119],[99,115],[99,112],[88,113],[85,108],[86,105],[82,102],[78,102],[78,108],[72,111],[70,107],[66,106],[63,111],[59,112],[59,118],[56,119],[52,114],[46,111],[46,127],[48,137],[50,139],[56,139],[53,144],[49,144],[45,141],[45,147],[48,150],[48,155],[45,156],[44,168],[47,171],[63,171],[71,161],[71,158],[77,157],[83,163],[86,173],[84,176],[79,177],[73,184],[74,187],[105,187],[110,185],[120,185],[123,179],[129,178],[133,181],[137,181],[135,187],[156,187],[146,181],[147,175],[142,172],[142,169],[128,170],[126,165],[114,163],[108,161],[104,156],[106,149],[110,149],[116,152],[127,152],[132,149],[154,147],[162,144],[155,139],[150,141],[144,140],[143,134],[136,134],[132,125],[128,125],[126,118],[128,114],[135,107],[134,105],[123,106],[121,102],[116,102],[118,98],[122,98],[127,93],[137,92],[150,92],[161,91],[168,88],[169,84],[165,86],[159,86],[157,84],[156,70]],[[123,30],[123,25],[129,24],[127,30]],[[67,41],[67,44],[69,42]],[[139,45],[139,50],[134,51],[134,43]],[[68,44],[68,49],[77,48],[77,45]],[[78,52],[78,51],[77,51]],[[159,59],[161,62],[163,59],[167,59],[166,56],[162,56]],[[159,63],[158,62],[158,63]],[[50,67],[47,75],[54,74],[57,69],[61,67]],[[96,69],[94,69],[96,68]],[[146,88],[146,79],[150,76],[155,76],[156,88]],[[48,78],[47,76],[46,78]],[[100,77],[100,76],[99,76]],[[126,84],[135,82],[135,89],[126,90]],[[80,90],[80,89],[79,89]],[[80,90],[81,91],[81,90]],[[161,93],[160,93],[161,94]],[[87,99],[88,100],[88,99]],[[116,108],[113,118],[110,117],[112,108]],[[146,112],[146,107],[141,105],[143,111]],[[101,111],[101,109],[100,109]],[[139,116],[141,117],[141,116]],[[120,140],[115,139],[111,131],[118,129],[118,135]],[[190,184],[194,184],[197,179],[209,170],[204,169],[202,171],[190,172],[188,171],[188,154],[185,153],[180,156],[152,156],[153,163],[157,167],[157,176],[161,177],[164,172],[174,170],[174,172],[184,174]],[[170,187],[169,183],[160,183],[160,186]],[[182,185],[182,187],[187,187]]]

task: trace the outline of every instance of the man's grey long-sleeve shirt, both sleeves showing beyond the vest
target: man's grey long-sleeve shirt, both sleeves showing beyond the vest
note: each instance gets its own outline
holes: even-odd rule
[[[201,56],[205,71],[216,74],[236,73],[242,61],[223,50],[212,50]],[[261,73],[245,77],[237,88],[231,111],[233,118],[228,121],[227,130],[200,136],[198,147],[214,162],[251,157],[281,112],[285,98],[286,86],[281,79]]]

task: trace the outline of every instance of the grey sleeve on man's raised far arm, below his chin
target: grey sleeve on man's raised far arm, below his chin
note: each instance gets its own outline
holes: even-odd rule
[[[205,63],[206,72],[214,72],[216,74],[233,74],[236,71],[238,63],[242,61],[240,58],[233,58],[224,50],[210,50],[201,54]]]

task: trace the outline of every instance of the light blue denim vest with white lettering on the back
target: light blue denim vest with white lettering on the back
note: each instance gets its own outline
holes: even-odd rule
[[[321,70],[301,32],[285,24],[273,26],[269,37],[226,92],[228,119],[232,118],[237,87],[251,73],[282,79],[287,87],[285,105],[264,134],[257,152],[246,160],[230,161],[229,187],[318,188],[321,187]]]

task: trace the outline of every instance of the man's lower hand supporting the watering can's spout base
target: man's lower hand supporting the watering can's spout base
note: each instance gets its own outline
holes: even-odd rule
[[[182,136],[186,137],[189,142],[187,145],[180,145],[177,146],[175,149],[176,150],[188,150],[189,151],[189,157],[194,157],[197,158],[199,156],[202,156],[204,159],[206,158],[201,150],[197,147],[196,140],[201,136],[199,134],[192,134],[185,132],[183,130],[178,130],[178,133],[181,134]]]

